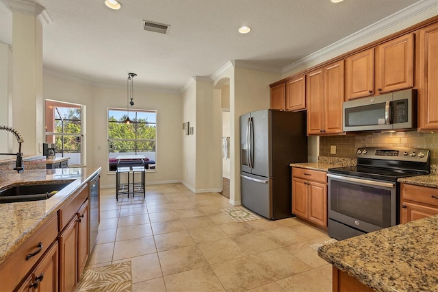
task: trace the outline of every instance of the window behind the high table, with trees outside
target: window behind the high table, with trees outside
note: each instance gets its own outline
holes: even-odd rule
[[[129,115],[131,123],[125,123]],[[116,171],[120,154],[143,155],[146,171],[155,170],[157,111],[108,108],[108,158],[110,171]]]

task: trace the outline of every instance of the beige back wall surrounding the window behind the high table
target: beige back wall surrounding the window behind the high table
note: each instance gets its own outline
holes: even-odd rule
[[[126,108],[126,88],[88,84],[73,78],[44,74],[44,98],[86,106],[86,165],[102,167],[102,187],[114,187],[108,173],[107,108]],[[181,95],[150,92],[136,87],[134,108],[157,110],[157,169],[146,174],[146,184],[181,180]],[[100,149],[99,149],[100,148]]]

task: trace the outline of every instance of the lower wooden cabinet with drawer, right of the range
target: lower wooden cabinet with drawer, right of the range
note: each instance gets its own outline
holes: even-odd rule
[[[438,214],[438,188],[400,184],[400,223]]]

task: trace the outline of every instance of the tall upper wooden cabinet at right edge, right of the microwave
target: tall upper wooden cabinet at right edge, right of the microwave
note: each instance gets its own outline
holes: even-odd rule
[[[438,130],[438,23],[420,29],[418,130]]]

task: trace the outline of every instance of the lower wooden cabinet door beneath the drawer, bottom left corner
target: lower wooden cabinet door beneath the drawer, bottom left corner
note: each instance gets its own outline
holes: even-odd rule
[[[58,291],[58,245],[57,241],[47,250],[40,263],[31,272],[17,291]]]

